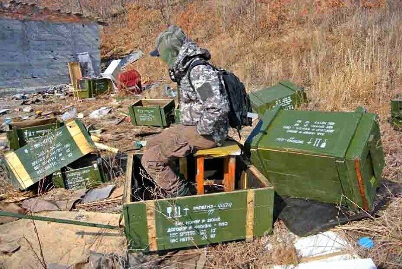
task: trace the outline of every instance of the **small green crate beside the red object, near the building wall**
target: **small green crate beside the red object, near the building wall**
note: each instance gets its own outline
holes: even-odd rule
[[[78,96],[80,98],[91,98],[106,92],[109,89],[107,78],[79,78]]]

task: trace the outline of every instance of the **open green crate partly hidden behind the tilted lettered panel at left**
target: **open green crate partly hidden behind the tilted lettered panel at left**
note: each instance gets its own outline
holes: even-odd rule
[[[42,139],[47,133],[63,124],[57,118],[17,121],[6,124],[10,149],[17,150],[29,142]]]

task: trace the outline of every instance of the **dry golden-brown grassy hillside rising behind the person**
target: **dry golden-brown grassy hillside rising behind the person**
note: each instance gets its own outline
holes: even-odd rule
[[[384,176],[402,181],[402,135],[386,122],[390,99],[402,92],[402,4],[215,0],[172,1],[166,9],[152,3],[127,4],[127,14],[111,20],[102,34],[104,57],[138,48],[148,53],[167,22],[179,25],[249,91],[290,79],[307,88],[311,103],[305,109],[352,111],[363,105],[378,113]],[[146,56],[132,67],[145,82],[169,81],[159,59]]]

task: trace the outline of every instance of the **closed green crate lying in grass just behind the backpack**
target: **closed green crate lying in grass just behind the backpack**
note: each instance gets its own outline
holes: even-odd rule
[[[260,115],[276,104],[280,104],[285,110],[293,110],[307,101],[304,88],[297,87],[290,81],[281,81],[275,86],[251,92],[249,97],[253,111]]]

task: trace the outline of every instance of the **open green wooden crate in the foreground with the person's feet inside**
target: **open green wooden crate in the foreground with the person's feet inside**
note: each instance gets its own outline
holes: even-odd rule
[[[142,195],[139,187],[145,184],[140,176],[143,173],[140,158],[130,154],[126,171],[123,213],[131,251],[251,240],[271,232],[274,199],[271,186],[138,201],[137,194]],[[257,187],[267,182],[264,179],[257,180],[261,184]]]

